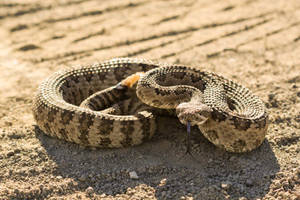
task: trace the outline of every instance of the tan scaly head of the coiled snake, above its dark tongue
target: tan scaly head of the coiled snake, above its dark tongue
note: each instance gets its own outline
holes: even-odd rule
[[[176,113],[179,121],[191,126],[205,123],[211,116],[213,110],[203,103],[184,102],[176,107]]]

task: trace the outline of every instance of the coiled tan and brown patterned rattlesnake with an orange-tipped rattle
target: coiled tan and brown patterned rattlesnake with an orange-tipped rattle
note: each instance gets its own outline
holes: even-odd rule
[[[39,85],[32,110],[45,134],[99,148],[151,139],[156,111],[163,110],[198,126],[205,138],[229,152],[259,147],[269,124],[264,103],[246,87],[213,72],[140,58],[55,72]]]

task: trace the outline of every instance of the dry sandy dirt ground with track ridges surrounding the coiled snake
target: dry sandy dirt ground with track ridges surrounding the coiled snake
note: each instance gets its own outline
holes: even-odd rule
[[[299,0],[1,0],[0,24],[0,199],[300,199]],[[121,56],[245,85],[268,107],[266,140],[233,154],[193,129],[194,159],[176,119],[124,149],[41,133],[31,103],[43,79]]]

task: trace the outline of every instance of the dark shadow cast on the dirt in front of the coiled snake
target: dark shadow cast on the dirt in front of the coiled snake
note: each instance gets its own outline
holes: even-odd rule
[[[73,190],[92,187],[92,196],[151,187],[157,199],[256,199],[268,193],[279,171],[267,140],[252,152],[228,153],[192,129],[193,157],[187,155],[185,127],[164,117],[151,141],[121,149],[86,148],[46,136],[38,127],[34,130],[57,164],[55,175],[76,181]],[[138,179],[130,177],[130,172],[136,172]]]

